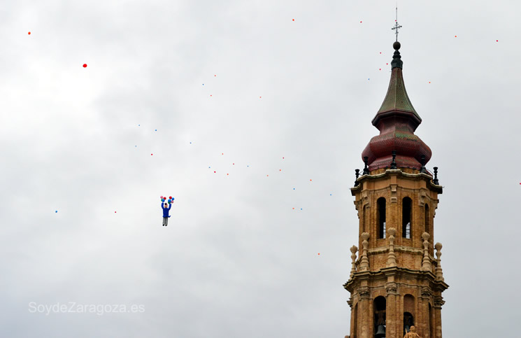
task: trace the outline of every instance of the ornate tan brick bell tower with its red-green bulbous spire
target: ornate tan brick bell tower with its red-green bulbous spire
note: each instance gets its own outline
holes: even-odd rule
[[[350,338],[401,338],[411,326],[422,338],[441,338],[441,293],[448,288],[441,270],[441,244],[434,244],[438,207],[437,167],[424,165],[430,148],[414,134],[422,122],[408,98],[400,43],[393,44],[387,95],[373,118],[380,130],[362,152],[356,170],[355,207],[359,257],[351,248]],[[434,249],[436,248],[436,257]]]

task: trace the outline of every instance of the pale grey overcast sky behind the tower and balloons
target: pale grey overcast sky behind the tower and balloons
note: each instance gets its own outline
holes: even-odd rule
[[[4,3],[1,336],[347,335],[349,188],[378,134],[394,8]],[[415,134],[445,187],[445,337],[511,336],[521,317],[519,10],[399,1]],[[139,311],[80,312],[100,304]]]

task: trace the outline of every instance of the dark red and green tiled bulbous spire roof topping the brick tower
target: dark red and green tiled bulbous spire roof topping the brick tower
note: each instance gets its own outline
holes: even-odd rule
[[[424,164],[429,162],[432,152],[414,131],[422,122],[411,104],[405,90],[404,77],[401,73],[400,43],[393,45],[394,55],[391,62],[392,73],[387,95],[378,113],[373,118],[373,125],[380,130],[380,135],[374,136],[362,152],[369,157],[369,171],[391,167],[392,151],[396,150],[397,167],[420,170],[422,155]]]

